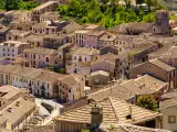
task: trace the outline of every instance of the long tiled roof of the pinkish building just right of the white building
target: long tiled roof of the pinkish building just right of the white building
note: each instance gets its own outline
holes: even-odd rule
[[[58,51],[56,50],[50,50],[50,48],[34,47],[34,48],[24,50],[23,53],[56,55]]]

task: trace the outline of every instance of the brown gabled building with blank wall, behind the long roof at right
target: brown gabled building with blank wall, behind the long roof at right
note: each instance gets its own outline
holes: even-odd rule
[[[129,78],[136,78],[138,75],[148,74],[155,78],[168,82],[168,90],[176,88],[176,69],[159,59],[150,59],[129,70]]]

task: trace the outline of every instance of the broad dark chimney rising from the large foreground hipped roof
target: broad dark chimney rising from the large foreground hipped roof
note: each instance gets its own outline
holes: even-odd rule
[[[95,103],[91,111],[91,128],[98,128],[103,121],[103,109]]]

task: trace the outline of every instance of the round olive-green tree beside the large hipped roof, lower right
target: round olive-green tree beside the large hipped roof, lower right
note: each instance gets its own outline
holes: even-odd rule
[[[144,95],[137,98],[137,106],[156,111],[158,109],[157,101],[153,96]]]

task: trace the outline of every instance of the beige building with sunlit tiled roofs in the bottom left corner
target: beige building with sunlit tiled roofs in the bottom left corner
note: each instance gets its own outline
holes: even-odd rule
[[[18,131],[37,111],[35,98],[13,86],[0,87],[0,128]]]

